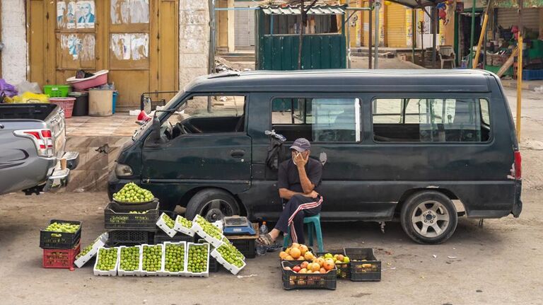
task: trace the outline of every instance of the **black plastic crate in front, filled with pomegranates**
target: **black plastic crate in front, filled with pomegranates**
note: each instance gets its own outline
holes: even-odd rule
[[[296,273],[292,270],[285,270],[285,267],[294,267],[298,263],[284,260],[281,262],[281,274],[283,289],[331,289],[337,286],[337,269],[334,268],[327,273]]]

